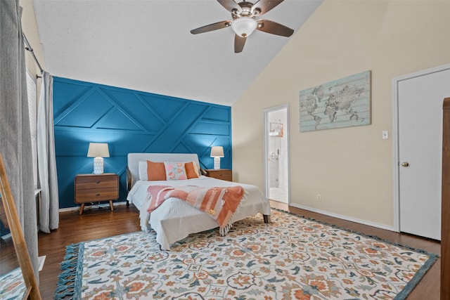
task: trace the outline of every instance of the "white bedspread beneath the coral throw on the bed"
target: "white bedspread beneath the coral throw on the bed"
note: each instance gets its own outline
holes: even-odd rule
[[[139,209],[142,230],[148,231],[150,228],[155,230],[157,242],[162,249],[166,250],[170,249],[171,244],[182,240],[189,234],[217,228],[218,224],[207,214],[195,209],[183,200],[173,197],[167,199],[148,216],[149,203],[146,200],[146,193],[150,185],[197,185],[205,187],[241,185],[245,189],[245,196],[233,221],[239,221],[258,213],[271,214],[269,201],[255,185],[222,181],[206,176],[180,181],[136,181],[128,194],[127,200]]]

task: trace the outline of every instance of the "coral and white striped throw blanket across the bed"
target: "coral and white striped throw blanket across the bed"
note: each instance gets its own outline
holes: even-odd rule
[[[219,223],[221,235],[226,235],[232,226],[233,216],[236,214],[245,190],[242,186],[205,188],[195,185],[172,187],[167,185],[151,185],[147,190],[150,205],[147,212],[160,207],[169,197],[186,201],[193,207],[204,211]]]

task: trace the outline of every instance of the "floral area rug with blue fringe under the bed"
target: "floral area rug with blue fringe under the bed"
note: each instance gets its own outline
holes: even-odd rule
[[[437,256],[272,210],[161,251],[155,233],[72,244],[56,299],[405,299]]]

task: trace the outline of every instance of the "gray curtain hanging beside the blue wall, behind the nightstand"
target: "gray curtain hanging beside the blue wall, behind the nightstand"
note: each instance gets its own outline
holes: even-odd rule
[[[53,77],[47,72],[42,74],[41,96],[37,109],[37,161],[41,188],[39,229],[50,233],[51,229],[58,228],[59,198],[53,131]]]

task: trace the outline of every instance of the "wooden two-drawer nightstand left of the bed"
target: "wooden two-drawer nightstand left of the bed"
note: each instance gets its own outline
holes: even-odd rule
[[[113,200],[119,198],[119,176],[113,173],[78,174],[75,176],[75,203],[82,204],[79,214],[83,214],[84,204],[109,201],[114,211]]]

